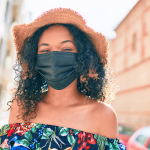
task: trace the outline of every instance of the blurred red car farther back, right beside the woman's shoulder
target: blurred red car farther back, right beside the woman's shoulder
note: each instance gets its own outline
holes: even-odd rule
[[[118,138],[125,146],[127,146],[127,142],[134,132],[135,129],[131,125],[118,123]]]

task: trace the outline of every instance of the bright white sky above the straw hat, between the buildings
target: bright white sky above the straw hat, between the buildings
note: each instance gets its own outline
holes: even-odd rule
[[[138,0],[25,0],[32,20],[44,11],[56,7],[71,8],[79,12],[87,25],[101,32],[107,39],[116,37],[114,29],[119,25]]]

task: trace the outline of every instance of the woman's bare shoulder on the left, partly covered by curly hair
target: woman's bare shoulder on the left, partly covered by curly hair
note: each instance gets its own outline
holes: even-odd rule
[[[17,100],[13,100],[11,103],[10,113],[9,113],[9,124],[19,123],[23,122],[22,119],[17,119],[17,116],[19,115],[19,106],[17,105]]]

